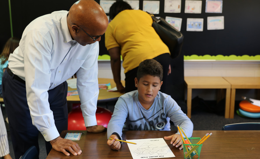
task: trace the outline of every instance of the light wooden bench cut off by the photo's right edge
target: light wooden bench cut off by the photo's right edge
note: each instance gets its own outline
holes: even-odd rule
[[[236,89],[260,89],[260,77],[223,77],[231,84],[229,118],[234,118]]]

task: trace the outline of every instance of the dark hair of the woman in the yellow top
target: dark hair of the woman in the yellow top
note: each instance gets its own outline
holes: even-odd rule
[[[112,20],[115,16],[123,10],[132,9],[131,6],[122,0],[118,0],[113,3],[109,9],[109,19]]]

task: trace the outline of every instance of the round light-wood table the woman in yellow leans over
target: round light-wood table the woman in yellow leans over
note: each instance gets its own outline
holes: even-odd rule
[[[123,86],[125,86],[125,81],[122,81]],[[99,78],[99,84],[106,84],[110,83],[111,88],[116,87],[116,83],[114,82],[114,79],[109,78]],[[68,87],[68,91],[70,90],[77,90],[77,88],[73,89]],[[107,92],[107,90],[100,89],[99,90],[99,97],[98,97],[98,103],[99,102],[108,102],[108,101],[116,101],[121,95],[124,93],[120,92]],[[80,103],[79,95],[73,95],[73,96],[67,96],[68,103]]]

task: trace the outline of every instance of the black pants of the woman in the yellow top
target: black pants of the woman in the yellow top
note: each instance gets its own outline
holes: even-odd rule
[[[155,58],[153,58],[157,62],[159,62],[163,66],[163,84],[161,85],[160,91],[162,93],[166,92],[166,82],[167,82],[167,77],[168,77],[168,70],[169,70],[169,65],[170,65],[170,54],[169,53],[164,53],[161,54]],[[135,87],[135,77],[137,74],[138,67],[135,67],[134,69],[128,71],[125,73],[125,93],[131,92],[133,90],[137,90],[137,87]]]

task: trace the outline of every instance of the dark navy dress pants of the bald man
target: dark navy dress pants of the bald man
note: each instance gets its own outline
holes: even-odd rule
[[[11,76],[5,71],[2,90],[15,158],[19,159],[32,145],[36,146],[39,153],[39,131],[32,125],[25,84],[14,79],[14,75]],[[66,81],[48,91],[50,109],[53,111],[55,125],[59,133],[68,129],[67,92],[68,84]],[[49,154],[52,148],[51,144],[45,142],[45,145],[47,154]]]

